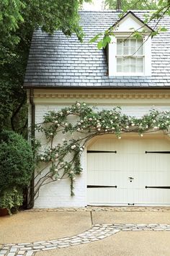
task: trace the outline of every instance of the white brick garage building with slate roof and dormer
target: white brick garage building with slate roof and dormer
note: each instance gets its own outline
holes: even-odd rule
[[[151,40],[156,21],[144,25],[143,14],[128,12],[119,20],[117,12],[81,12],[84,43],[60,31],[35,31],[24,80],[30,124],[76,101],[99,109],[120,106],[123,113],[138,117],[153,106],[170,111],[170,33]],[[164,17],[159,25],[169,29],[169,24],[170,17]],[[89,43],[111,25],[115,37],[107,49]],[[132,37],[132,27],[141,38]],[[70,196],[66,179],[47,184],[40,189],[35,208],[170,205],[169,153],[165,132],[143,137],[127,133],[121,140],[115,135],[94,137],[82,154],[84,171],[75,182],[75,196]]]

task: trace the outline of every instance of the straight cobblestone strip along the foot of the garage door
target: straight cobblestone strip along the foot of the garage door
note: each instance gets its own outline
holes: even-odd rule
[[[169,212],[170,207],[143,207],[143,206],[128,206],[128,207],[114,207],[114,206],[87,206],[82,208],[35,208],[24,210],[22,213],[36,213],[36,212]]]

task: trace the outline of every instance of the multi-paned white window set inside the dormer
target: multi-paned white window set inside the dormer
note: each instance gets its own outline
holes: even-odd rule
[[[117,38],[117,73],[143,73],[143,39]]]

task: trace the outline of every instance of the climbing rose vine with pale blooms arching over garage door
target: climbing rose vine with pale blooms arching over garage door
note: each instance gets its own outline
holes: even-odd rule
[[[76,116],[72,123],[68,116]],[[152,109],[141,118],[122,114],[120,107],[112,110],[98,111],[97,108],[87,106],[86,103],[76,102],[71,107],[60,111],[49,111],[45,114],[42,124],[35,129],[45,134],[48,148],[40,153],[37,148],[40,142],[33,140],[36,151],[36,161],[42,168],[35,176],[35,196],[38,196],[40,187],[61,179],[71,180],[71,196],[73,196],[73,182],[76,176],[83,171],[81,168],[81,153],[86,142],[97,135],[115,134],[121,139],[122,133],[137,132],[140,137],[146,132],[158,130],[169,131],[170,112]],[[55,142],[56,137],[69,135],[70,139],[61,143]],[[79,137],[81,135],[81,137]],[[49,167],[48,171],[45,169]],[[44,172],[45,171],[45,172]]]

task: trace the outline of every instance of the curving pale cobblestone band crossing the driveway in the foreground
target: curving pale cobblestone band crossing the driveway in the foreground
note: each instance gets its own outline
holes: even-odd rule
[[[91,229],[76,236],[68,236],[56,240],[42,242],[4,244],[0,256],[33,256],[38,251],[60,249],[79,244],[86,244],[107,236],[112,236],[119,231],[170,231],[169,224],[102,224],[94,225]]]

